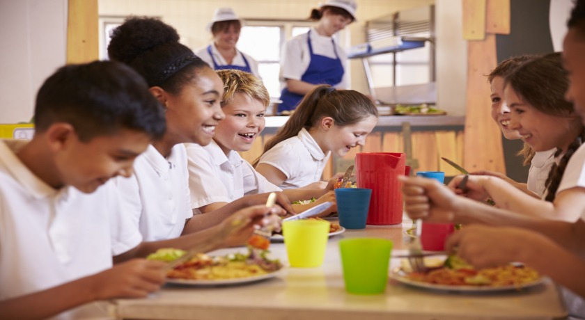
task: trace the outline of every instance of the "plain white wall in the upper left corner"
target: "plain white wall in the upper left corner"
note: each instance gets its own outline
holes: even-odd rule
[[[0,0],[0,123],[28,122],[42,81],[65,63],[67,0]]]

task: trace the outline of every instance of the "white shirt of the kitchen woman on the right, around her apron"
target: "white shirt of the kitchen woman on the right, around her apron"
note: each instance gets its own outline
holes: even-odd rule
[[[309,45],[307,44],[307,37],[309,33],[297,35],[295,38],[288,40],[282,49],[281,57],[281,71],[280,81],[281,89],[286,88],[286,79],[300,80],[306,69],[311,63],[311,53],[309,52]],[[315,28],[311,28],[311,46],[313,47],[313,54],[319,56],[326,56],[327,58],[336,58],[331,37],[320,35]],[[346,66],[348,56],[345,51],[335,43],[337,56],[343,65],[343,78],[340,83],[334,85],[338,89],[348,89],[348,67]]]

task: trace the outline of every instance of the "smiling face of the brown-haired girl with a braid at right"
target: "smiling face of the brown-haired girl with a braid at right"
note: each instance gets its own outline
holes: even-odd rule
[[[577,117],[549,115],[524,102],[511,86],[504,90],[510,106],[510,129],[517,130],[522,141],[536,151],[559,147],[566,151],[581,131]]]

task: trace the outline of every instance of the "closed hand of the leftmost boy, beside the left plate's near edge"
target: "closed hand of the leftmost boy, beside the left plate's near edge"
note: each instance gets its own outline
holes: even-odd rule
[[[143,298],[164,284],[165,262],[132,259],[112,269],[93,275],[91,291],[96,300],[109,298]]]

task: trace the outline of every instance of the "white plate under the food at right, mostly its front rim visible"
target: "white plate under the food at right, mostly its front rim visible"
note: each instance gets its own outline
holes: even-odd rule
[[[402,268],[394,268],[390,273],[390,278],[401,282],[405,285],[412,287],[431,289],[438,291],[451,291],[451,292],[467,292],[467,293],[482,293],[482,292],[501,292],[501,291],[519,291],[520,289],[526,289],[535,287],[543,283],[544,278],[540,277],[538,280],[533,282],[524,283],[523,285],[508,285],[504,287],[486,287],[486,286],[472,286],[472,285],[437,285],[434,283],[419,282],[410,280],[407,278],[407,272],[403,271]]]

